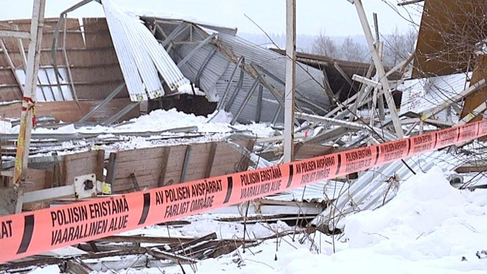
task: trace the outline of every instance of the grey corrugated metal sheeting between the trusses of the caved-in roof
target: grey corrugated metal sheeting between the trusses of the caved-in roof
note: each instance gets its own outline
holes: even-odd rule
[[[143,19],[158,24],[158,26],[162,28],[165,32],[165,36],[169,36],[169,33],[177,28],[178,23],[192,24],[192,22],[188,21],[167,21],[164,18],[143,17]],[[194,24],[196,25],[194,29],[184,29],[177,36],[177,39],[173,40],[174,42],[184,43],[173,43],[169,54],[176,62],[178,62],[181,61],[185,56],[188,56],[192,53],[186,63],[181,66],[181,71],[185,75],[185,77],[187,77],[191,82],[198,83],[198,81],[196,81],[198,71],[201,70],[201,67],[204,64],[204,61],[206,60],[208,55],[216,49],[214,45],[207,44],[193,52],[193,50],[197,47],[197,41],[204,40],[208,35],[207,33],[203,33],[204,36],[202,36],[202,33],[200,33],[202,32],[201,29],[211,28],[214,31],[222,29],[208,25],[199,25],[197,23]],[[196,28],[198,28],[199,31],[197,31]],[[246,64],[254,62],[255,64],[264,68],[264,70],[271,73],[275,78],[279,79],[280,81],[276,81],[275,79],[272,79],[272,77],[264,75],[265,79],[272,86],[274,86],[278,90],[281,90],[282,92],[284,91],[286,68],[284,56],[275,53],[269,49],[262,48],[246,40],[243,40],[235,36],[234,32],[231,31],[218,32],[217,40],[220,43],[224,44],[226,47],[228,47],[235,56],[245,57]],[[230,61],[228,57],[219,52],[218,49],[208,60],[208,62],[203,67],[202,73],[199,78],[199,88],[205,92],[206,98],[209,101],[219,101],[222,98],[225,89],[230,81],[230,77],[232,75],[232,72],[234,71],[234,68],[235,64],[233,63],[233,61]],[[239,75],[240,68],[237,68],[226,97],[227,102],[229,102],[230,98],[232,97],[232,93],[237,85]],[[235,99],[232,101],[232,104],[228,106],[229,111],[233,114],[238,111],[242,104],[242,101],[245,99],[255,81],[255,79],[253,79],[247,73],[244,73],[243,75],[244,76],[242,86],[238,90]],[[299,93],[297,94],[297,97],[302,97],[300,94],[303,94],[305,98],[309,101],[312,101],[314,104],[320,105],[322,109],[327,109],[330,106],[330,102],[328,101],[328,97],[326,96],[325,91],[320,86],[320,84],[323,83],[323,80],[323,73],[320,70],[299,63],[296,66],[296,90]],[[254,91],[254,94],[250,98],[246,107],[243,108],[242,113],[238,117],[238,122],[250,122],[257,120],[256,115],[258,106],[258,90],[259,89],[257,88]],[[263,89],[262,98],[262,110],[259,120],[262,122],[271,122],[279,105],[272,93],[266,88]],[[303,104],[302,102],[298,102],[298,105],[304,111],[324,114],[324,111],[320,111],[320,109],[311,107],[307,104]],[[281,114],[278,116],[277,121],[282,122],[283,119],[284,115],[281,111]]]

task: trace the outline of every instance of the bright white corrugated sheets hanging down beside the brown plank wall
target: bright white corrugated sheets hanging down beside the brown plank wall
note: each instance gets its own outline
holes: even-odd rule
[[[102,5],[132,101],[164,95],[159,74],[171,90],[191,90],[189,80],[141,21],[123,13],[110,0],[103,0]]]

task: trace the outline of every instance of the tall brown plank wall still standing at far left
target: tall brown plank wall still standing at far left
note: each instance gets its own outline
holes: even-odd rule
[[[43,29],[41,66],[51,66],[51,49],[57,18],[47,18]],[[0,21],[0,29],[12,30],[17,25],[19,30],[29,31],[30,19]],[[10,27],[5,26],[7,24]],[[63,28],[61,28],[62,30]],[[83,35],[85,39],[83,39]],[[63,33],[58,40],[58,48],[62,45]],[[22,68],[22,57],[18,40],[4,38],[9,55],[16,68]],[[23,39],[25,55],[28,40]],[[83,18],[81,28],[77,18],[67,19],[66,31],[67,59],[72,70],[73,83],[80,99],[102,99],[123,82],[122,72],[112,44],[110,32],[105,18]],[[6,56],[0,53],[0,101],[21,99],[20,89],[12,74]],[[62,51],[56,51],[56,63],[65,66]],[[117,98],[128,98],[126,89]]]

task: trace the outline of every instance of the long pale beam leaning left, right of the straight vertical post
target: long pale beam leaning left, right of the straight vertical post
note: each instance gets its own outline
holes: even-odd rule
[[[351,1],[351,0],[349,0]],[[397,115],[396,111],[396,104],[394,99],[391,95],[391,88],[389,86],[389,81],[387,80],[386,72],[384,70],[384,65],[380,60],[379,54],[374,46],[374,38],[372,36],[372,31],[370,30],[370,26],[367,22],[367,16],[365,15],[365,10],[362,5],[361,0],[354,0],[355,8],[357,9],[357,13],[359,15],[360,23],[362,24],[362,28],[364,29],[365,38],[367,40],[367,44],[369,46],[369,50],[372,53],[372,59],[375,64],[375,71],[377,77],[379,78],[379,82],[382,84],[382,88],[384,90],[384,95],[386,96],[387,106],[389,108],[389,112],[392,118],[392,122],[394,124],[394,129],[396,131],[397,137],[402,139],[404,137],[404,132],[402,131],[401,121],[399,121],[399,116]]]

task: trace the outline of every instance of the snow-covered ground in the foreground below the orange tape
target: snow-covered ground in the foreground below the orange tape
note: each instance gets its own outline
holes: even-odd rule
[[[222,224],[207,215],[191,218],[191,225],[171,229],[170,233],[198,236],[215,231],[223,238],[241,237],[243,228],[239,224]],[[284,236],[277,243],[275,238],[269,239],[245,253],[239,248],[231,254],[200,261],[193,268],[203,274],[487,272],[487,255],[481,253],[487,250],[487,190],[455,189],[439,168],[405,181],[396,198],[384,207],[357,213],[343,222],[344,234],[335,238],[334,247],[333,239],[321,233],[311,234],[305,241],[299,241],[302,234],[296,235],[294,241],[292,236]],[[271,230],[266,226],[257,224],[250,231],[265,236],[275,229],[292,229],[283,223],[274,224]],[[167,228],[154,226],[132,233],[135,232],[163,236],[167,235]],[[186,273],[193,273],[191,265],[183,267]],[[117,272],[182,270],[180,266],[169,266]]]

